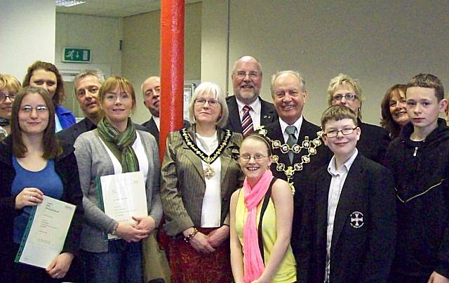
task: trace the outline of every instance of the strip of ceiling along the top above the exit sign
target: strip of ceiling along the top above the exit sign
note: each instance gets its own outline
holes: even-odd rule
[[[84,0],[86,3],[73,7],[56,7],[57,13],[97,15],[102,17],[128,17],[161,9],[160,0]],[[185,0],[185,4],[201,0]]]

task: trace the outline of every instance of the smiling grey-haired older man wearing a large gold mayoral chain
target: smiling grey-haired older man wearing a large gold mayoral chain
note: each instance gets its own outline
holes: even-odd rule
[[[271,141],[274,154],[271,170],[274,176],[288,181],[295,193],[293,239],[300,232],[303,194],[309,189],[309,177],[328,164],[332,154],[323,145],[319,126],[302,116],[307,90],[299,73],[283,71],[274,74],[272,98],[279,119],[258,132]]]

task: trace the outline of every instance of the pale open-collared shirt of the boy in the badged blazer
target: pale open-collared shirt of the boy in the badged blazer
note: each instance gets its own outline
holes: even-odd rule
[[[337,211],[338,201],[342,193],[344,181],[348,175],[349,169],[357,157],[358,150],[356,149],[354,154],[347,159],[340,168],[335,168],[335,155],[330,159],[328,172],[332,179],[330,179],[329,195],[328,195],[328,229],[327,229],[327,242],[326,242],[326,273],[324,276],[324,282],[329,282],[330,275],[330,246],[332,244],[332,235],[334,230],[335,211]]]

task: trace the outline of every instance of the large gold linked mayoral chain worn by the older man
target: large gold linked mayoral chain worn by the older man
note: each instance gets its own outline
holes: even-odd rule
[[[316,138],[313,140],[309,140],[309,136],[305,136],[304,140],[302,140],[302,145],[290,145],[286,143],[281,143],[281,140],[272,140],[267,136],[267,129],[264,129],[264,126],[260,126],[257,129],[257,132],[267,138],[269,143],[272,143],[272,150],[280,149],[283,154],[288,153],[290,150],[293,151],[294,154],[298,154],[302,149],[307,149],[307,154],[302,155],[301,162],[292,164],[293,166],[287,166],[279,162],[279,155],[273,154],[273,161],[276,163],[276,170],[279,172],[283,172],[287,177],[287,182],[290,185],[290,189],[292,190],[293,195],[295,195],[295,185],[292,181],[293,176],[296,171],[301,171],[303,169],[302,164],[307,164],[310,162],[310,156],[316,154],[316,147],[321,145],[321,138],[323,136],[323,131],[316,132]]]

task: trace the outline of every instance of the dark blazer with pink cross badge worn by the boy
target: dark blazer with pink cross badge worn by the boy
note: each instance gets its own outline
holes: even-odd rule
[[[323,282],[326,270],[327,166],[314,174],[302,230],[293,247],[298,282]],[[356,222],[356,218],[363,220]],[[358,224],[358,225],[357,225]],[[358,153],[335,212],[330,282],[387,282],[396,247],[396,198],[391,172]]]

